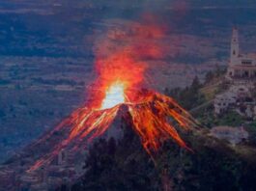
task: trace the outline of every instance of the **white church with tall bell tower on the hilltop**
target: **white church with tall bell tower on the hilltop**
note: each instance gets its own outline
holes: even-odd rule
[[[238,28],[233,28],[230,61],[227,70],[229,80],[256,80],[256,54],[241,54]]]

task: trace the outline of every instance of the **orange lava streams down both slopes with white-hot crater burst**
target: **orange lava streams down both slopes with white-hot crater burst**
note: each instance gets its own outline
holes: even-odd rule
[[[128,107],[132,128],[141,139],[142,145],[153,156],[163,141],[172,138],[181,147],[190,150],[178,134],[174,125],[169,123],[171,117],[183,129],[195,124],[193,118],[177,102],[166,95],[156,92],[139,92],[136,99],[127,102],[126,86],[117,81],[107,88],[100,108],[78,108],[69,118],[51,131],[65,131],[67,136],[58,140],[52,150],[39,159],[29,170],[37,170],[49,164],[61,150],[73,150],[100,137],[114,121],[121,105]],[[49,138],[46,135],[40,141]]]

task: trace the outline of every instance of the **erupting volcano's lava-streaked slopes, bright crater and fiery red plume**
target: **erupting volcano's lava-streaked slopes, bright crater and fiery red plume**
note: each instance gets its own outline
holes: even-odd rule
[[[151,156],[155,156],[161,144],[168,139],[190,150],[176,127],[188,130],[195,124],[193,118],[173,98],[141,88],[145,83],[144,72],[148,66],[145,58],[158,59],[162,54],[162,48],[156,41],[149,42],[148,36],[158,40],[163,37],[163,32],[156,26],[136,27],[136,32],[129,37],[122,36],[126,45],[114,53],[96,58],[98,77],[94,91],[89,93],[91,101],[73,111],[70,117],[39,140],[38,143],[43,143],[54,132],[66,132],[29,171],[49,164],[61,150],[75,151],[86,147],[107,131],[124,107],[127,108],[131,127]],[[142,34],[147,34],[147,37]],[[128,43],[130,38],[132,43]]]

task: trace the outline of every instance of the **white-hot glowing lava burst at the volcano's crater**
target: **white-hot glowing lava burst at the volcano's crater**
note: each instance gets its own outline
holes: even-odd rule
[[[102,100],[100,109],[108,109],[125,102],[125,85],[122,82],[115,82],[106,90],[105,98]]]

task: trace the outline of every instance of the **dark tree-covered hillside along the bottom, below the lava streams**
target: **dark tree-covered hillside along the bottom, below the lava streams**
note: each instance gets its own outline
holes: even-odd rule
[[[164,143],[154,163],[138,136],[127,126],[118,143],[100,139],[90,149],[85,174],[71,186],[57,190],[253,190],[256,168],[226,142],[204,134],[182,134],[188,151],[172,141]]]

